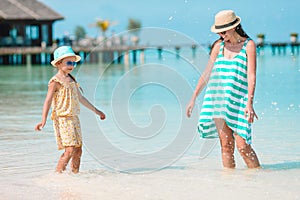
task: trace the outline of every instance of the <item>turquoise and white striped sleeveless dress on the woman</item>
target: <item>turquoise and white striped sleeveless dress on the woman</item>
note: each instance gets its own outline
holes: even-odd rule
[[[220,44],[198,122],[202,138],[218,137],[213,119],[222,118],[234,133],[251,144],[251,124],[244,116],[248,101],[246,46],[249,40],[233,59],[223,56],[224,41]]]

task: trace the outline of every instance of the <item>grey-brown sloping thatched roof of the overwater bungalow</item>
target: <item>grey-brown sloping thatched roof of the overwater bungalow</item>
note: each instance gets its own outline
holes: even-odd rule
[[[0,20],[55,21],[63,18],[37,0],[0,0]]]

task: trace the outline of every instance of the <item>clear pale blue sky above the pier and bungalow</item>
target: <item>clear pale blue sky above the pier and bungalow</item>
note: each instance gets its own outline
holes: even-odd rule
[[[264,33],[267,42],[289,42],[290,33],[300,34],[299,0],[39,0],[65,17],[54,23],[54,37],[74,34],[76,26],[84,27],[90,37],[99,30],[90,25],[97,19],[117,24],[107,35],[127,30],[129,18],[141,21],[142,28],[167,28],[180,32],[199,43],[218,38],[210,32],[217,12],[234,10],[242,18],[246,33],[256,40]],[[298,13],[298,14],[297,14]],[[299,35],[300,37],[300,35]]]

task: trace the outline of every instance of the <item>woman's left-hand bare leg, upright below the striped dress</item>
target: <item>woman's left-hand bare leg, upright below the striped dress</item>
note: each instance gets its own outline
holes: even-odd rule
[[[235,168],[233,131],[223,119],[214,119],[220,138],[222,161],[225,168]]]

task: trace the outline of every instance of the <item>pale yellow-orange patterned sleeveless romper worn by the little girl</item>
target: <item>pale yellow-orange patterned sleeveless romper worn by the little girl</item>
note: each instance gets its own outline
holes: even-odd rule
[[[68,146],[81,147],[82,135],[78,117],[80,105],[77,92],[79,84],[74,81],[62,82],[55,76],[50,79],[49,84],[52,81],[60,84],[51,104],[51,119],[58,149]]]

